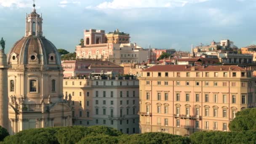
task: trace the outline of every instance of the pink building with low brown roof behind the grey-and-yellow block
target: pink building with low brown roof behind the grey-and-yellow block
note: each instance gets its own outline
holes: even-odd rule
[[[64,77],[77,75],[90,75],[91,73],[111,73],[112,75],[123,74],[123,67],[109,61],[99,60],[75,60],[63,61]]]

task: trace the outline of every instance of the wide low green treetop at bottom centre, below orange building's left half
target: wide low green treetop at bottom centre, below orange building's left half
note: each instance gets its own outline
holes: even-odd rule
[[[188,137],[169,133],[141,133],[123,136],[119,144],[189,144]]]

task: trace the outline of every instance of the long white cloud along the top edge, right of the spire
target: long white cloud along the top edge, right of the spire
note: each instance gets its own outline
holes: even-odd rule
[[[97,9],[131,9],[131,8],[161,8],[161,7],[183,7],[187,3],[202,3],[208,0],[112,0],[103,2],[94,7]]]

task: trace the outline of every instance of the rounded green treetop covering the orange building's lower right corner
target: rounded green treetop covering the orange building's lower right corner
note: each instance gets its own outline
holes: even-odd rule
[[[229,124],[229,129],[231,131],[256,130],[256,108],[237,112],[235,119]]]

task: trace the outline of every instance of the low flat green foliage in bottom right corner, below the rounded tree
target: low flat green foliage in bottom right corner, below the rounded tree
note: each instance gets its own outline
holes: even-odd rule
[[[256,131],[200,131],[189,138],[192,144],[255,144]]]

